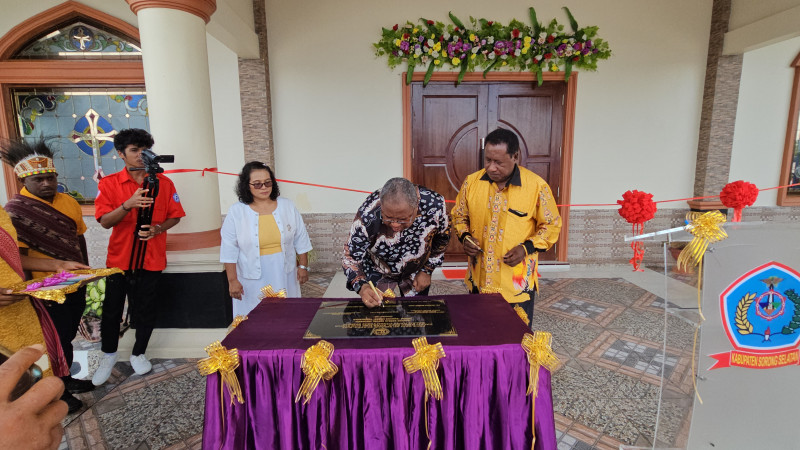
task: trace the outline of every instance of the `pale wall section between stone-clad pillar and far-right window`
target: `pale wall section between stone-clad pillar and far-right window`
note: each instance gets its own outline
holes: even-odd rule
[[[800,37],[744,54],[730,180],[759,188],[781,184],[780,169]],[[777,191],[761,192],[756,206],[775,206]]]

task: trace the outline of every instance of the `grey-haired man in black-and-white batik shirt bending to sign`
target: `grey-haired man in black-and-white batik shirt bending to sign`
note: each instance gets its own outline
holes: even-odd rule
[[[401,296],[427,295],[449,241],[444,197],[392,178],[358,208],[342,258],[347,289],[369,307],[381,304],[380,293],[395,287]]]

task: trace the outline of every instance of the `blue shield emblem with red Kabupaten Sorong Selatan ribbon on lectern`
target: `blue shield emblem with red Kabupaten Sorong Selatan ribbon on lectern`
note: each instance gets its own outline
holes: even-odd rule
[[[710,355],[711,369],[769,369],[800,360],[800,273],[769,262],[745,273],[719,296],[722,325],[734,350]]]

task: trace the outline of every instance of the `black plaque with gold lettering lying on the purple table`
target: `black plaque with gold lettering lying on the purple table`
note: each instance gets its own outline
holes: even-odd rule
[[[456,336],[442,299],[385,301],[367,308],[361,300],[322,302],[305,339]]]

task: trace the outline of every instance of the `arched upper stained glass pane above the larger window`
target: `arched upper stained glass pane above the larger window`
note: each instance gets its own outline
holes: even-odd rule
[[[74,22],[25,46],[18,59],[141,59],[142,49],[130,39],[84,22]]]

